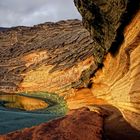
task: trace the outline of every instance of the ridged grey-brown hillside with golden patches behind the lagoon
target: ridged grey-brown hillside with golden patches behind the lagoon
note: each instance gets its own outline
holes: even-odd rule
[[[0,32],[0,91],[70,94],[97,68],[96,43],[78,20]]]

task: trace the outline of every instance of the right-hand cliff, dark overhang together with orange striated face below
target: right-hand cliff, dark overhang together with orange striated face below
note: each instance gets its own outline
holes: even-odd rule
[[[75,3],[83,16],[84,26],[98,42],[99,49],[106,52],[111,47],[103,68],[92,79],[93,95],[119,108],[124,118],[140,130],[139,2],[75,0]],[[123,31],[132,15],[133,20]],[[119,43],[120,49],[116,46]],[[104,56],[104,53],[100,54]]]

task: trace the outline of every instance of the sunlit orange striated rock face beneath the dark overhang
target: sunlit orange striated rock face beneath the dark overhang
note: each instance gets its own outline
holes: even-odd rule
[[[92,93],[117,107],[124,118],[140,130],[140,12],[124,33],[124,42],[93,78]]]

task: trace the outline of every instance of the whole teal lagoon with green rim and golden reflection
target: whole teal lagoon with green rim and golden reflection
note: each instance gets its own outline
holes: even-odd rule
[[[0,93],[0,134],[32,127],[65,116],[67,111],[66,101],[58,94],[47,92],[28,92],[18,95]]]

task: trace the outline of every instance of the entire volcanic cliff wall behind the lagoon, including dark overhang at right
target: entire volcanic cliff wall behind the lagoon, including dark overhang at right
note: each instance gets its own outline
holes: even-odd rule
[[[1,94],[55,93],[69,109],[88,106],[99,114],[102,105],[111,105],[140,130],[140,3],[75,4],[90,33],[79,20],[0,32]]]

